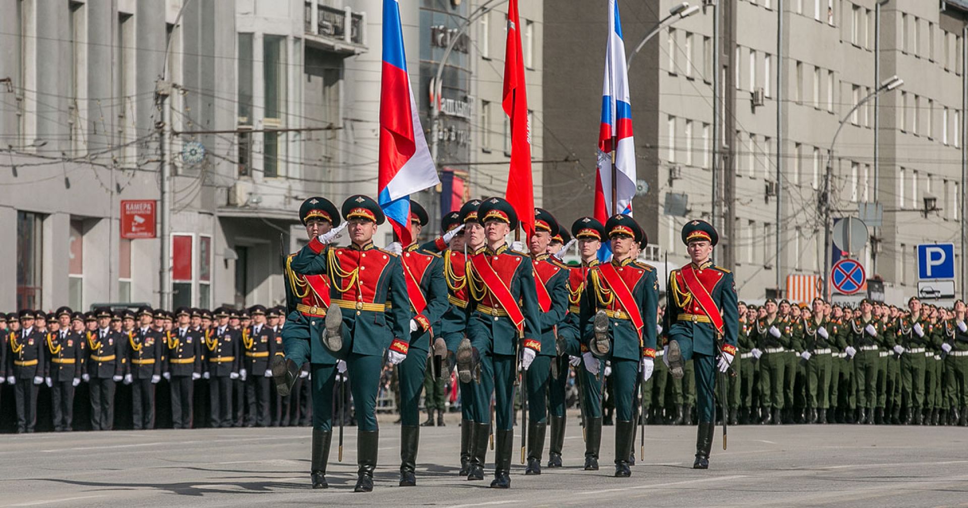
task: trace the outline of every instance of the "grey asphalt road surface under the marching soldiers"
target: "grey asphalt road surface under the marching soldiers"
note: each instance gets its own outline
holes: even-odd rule
[[[487,488],[493,452],[485,481],[457,476],[460,427],[448,418],[422,430],[415,488],[397,487],[399,427],[381,419],[373,493],[352,492],[354,428],[343,463],[334,433],[325,491],[309,488],[308,428],[4,434],[0,506],[968,507],[965,428],[733,427],[727,451],[717,428],[711,468],[699,471],[690,468],[695,427],[648,427],[645,457],[619,479],[614,428],[604,428],[601,470],[584,471],[572,415],[564,467],[525,476],[516,443],[511,489],[498,491]]]

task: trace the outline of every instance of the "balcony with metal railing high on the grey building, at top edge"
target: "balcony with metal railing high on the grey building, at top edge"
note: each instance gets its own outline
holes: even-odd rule
[[[349,7],[337,8],[317,3],[305,3],[303,28],[306,44],[345,53],[366,51],[366,14],[354,13]]]

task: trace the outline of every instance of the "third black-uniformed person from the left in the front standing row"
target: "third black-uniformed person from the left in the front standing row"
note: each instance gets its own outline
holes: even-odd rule
[[[91,318],[108,318],[111,313],[99,309]],[[87,360],[85,374],[90,378],[91,429],[110,431],[114,428],[114,389],[128,365],[124,356],[122,335],[110,328],[99,328],[86,333]]]

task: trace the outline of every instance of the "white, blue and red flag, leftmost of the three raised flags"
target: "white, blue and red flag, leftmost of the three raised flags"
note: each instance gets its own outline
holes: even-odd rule
[[[378,167],[379,206],[400,242],[407,246],[413,241],[408,228],[409,194],[434,187],[440,181],[413,101],[398,0],[383,0]]]

